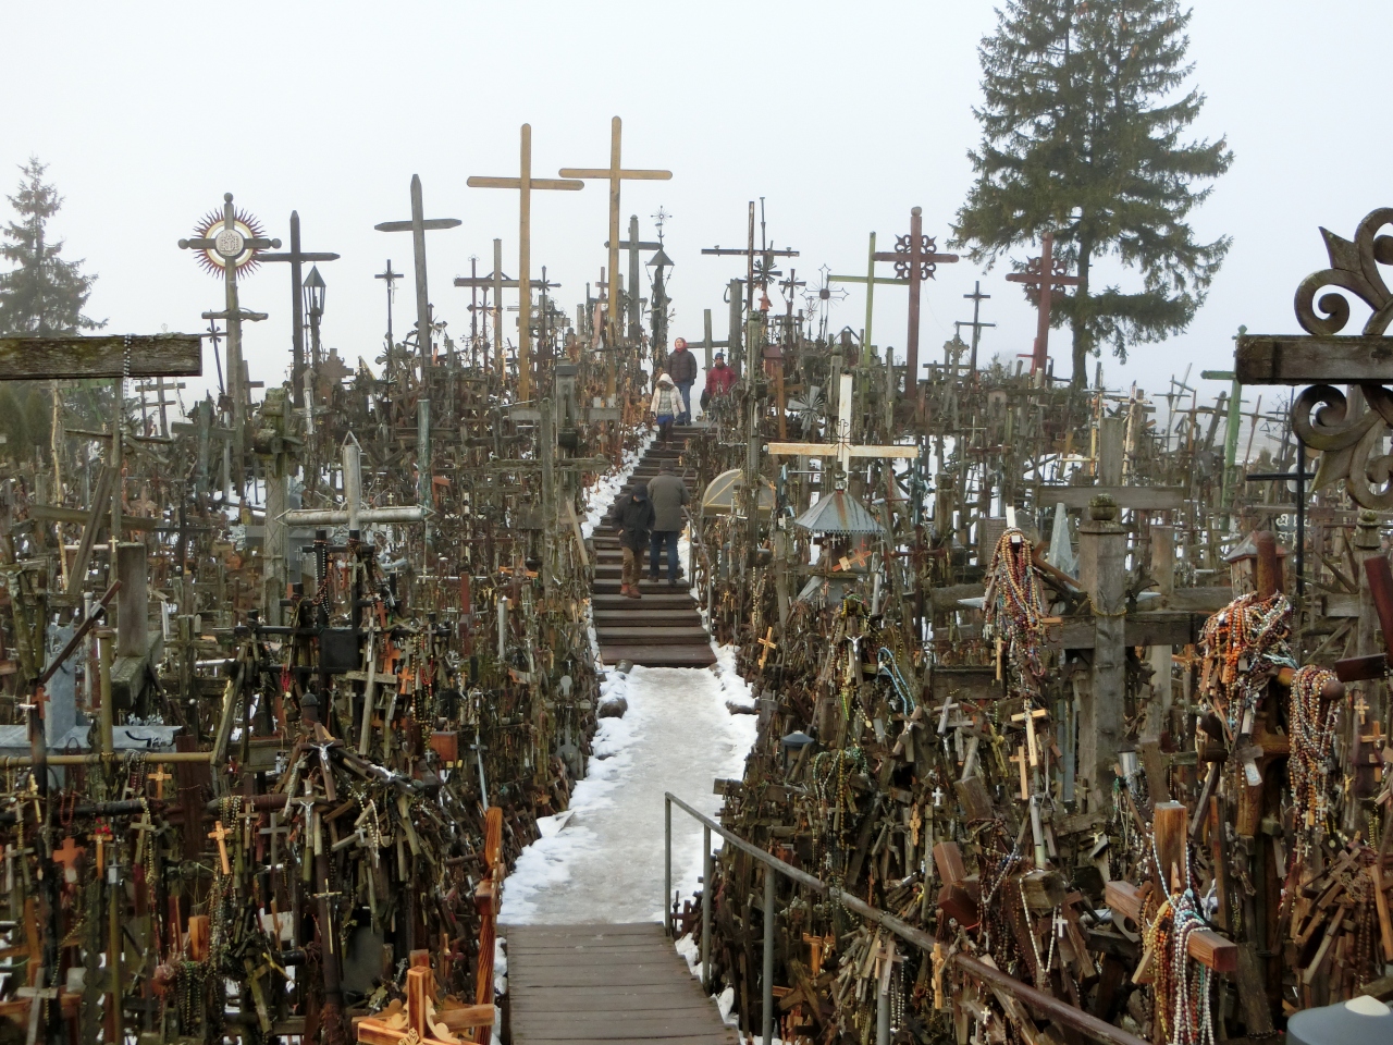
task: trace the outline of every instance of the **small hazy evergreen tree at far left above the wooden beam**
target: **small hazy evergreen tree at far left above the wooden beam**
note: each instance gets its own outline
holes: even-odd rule
[[[14,268],[0,273],[0,333],[65,334],[96,330],[104,322],[82,315],[95,276],[82,273],[81,261],[64,261],[63,241],[49,241],[47,224],[63,198],[46,184],[46,166],[31,156],[21,169],[17,195],[8,196],[18,222],[4,230],[0,255]]]

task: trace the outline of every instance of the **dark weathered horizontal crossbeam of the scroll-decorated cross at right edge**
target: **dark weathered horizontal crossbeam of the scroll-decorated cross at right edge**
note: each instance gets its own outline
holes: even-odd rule
[[[1393,380],[1393,337],[1244,334],[1234,351],[1244,385],[1344,385]]]

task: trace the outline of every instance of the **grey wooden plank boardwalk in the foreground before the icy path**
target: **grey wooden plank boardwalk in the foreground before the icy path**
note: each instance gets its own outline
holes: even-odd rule
[[[506,925],[513,1045],[736,1045],[656,924]]]

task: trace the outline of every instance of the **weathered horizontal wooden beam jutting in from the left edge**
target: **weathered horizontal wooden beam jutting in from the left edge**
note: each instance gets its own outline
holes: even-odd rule
[[[47,378],[182,378],[203,372],[198,334],[0,337],[0,380]]]

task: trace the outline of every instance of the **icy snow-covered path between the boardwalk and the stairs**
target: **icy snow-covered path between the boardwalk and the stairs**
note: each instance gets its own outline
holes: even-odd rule
[[[715,814],[712,782],[742,776],[755,740],[755,718],[726,708],[752,704],[733,651],[717,658],[715,669],[610,672],[603,691],[624,697],[628,712],[600,719],[571,808],[543,821],[545,837],[518,857],[503,888],[504,924],[662,920],[663,791]],[[673,810],[673,888],[695,892],[701,865],[701,825]]]

